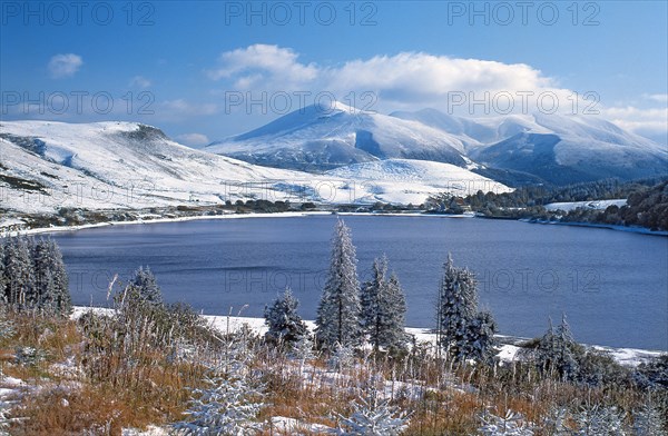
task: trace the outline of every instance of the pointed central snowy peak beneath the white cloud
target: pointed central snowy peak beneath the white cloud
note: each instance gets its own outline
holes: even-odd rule
[[[315,171],[392,158],[468,165],[464,143],[456,136],[341,102],[298,109],[206,150],[252,164]]]

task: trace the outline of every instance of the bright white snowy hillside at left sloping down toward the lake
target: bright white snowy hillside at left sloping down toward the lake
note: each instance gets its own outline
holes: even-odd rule
[[[0,153],[2,206],[18,210],[206,204],[263,189],[282,197],[273,186],[239,184],[299,178],[193,150],[156,128],[129,122],[2,122]]]

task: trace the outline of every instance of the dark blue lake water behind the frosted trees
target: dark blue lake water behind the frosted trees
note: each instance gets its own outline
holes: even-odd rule
[[[107,305],[108,283],[148,265],[168,301],[205,314],[262,316],[285,286],[313,319],[334,216],[114,226],[56,234],[77,305]],[[541,335],[566,313],[576,338],[668,350],[668,238],[606,229],[443,217],[344,217],[361,279],[385,252],[407,299],[407,325],[431,327],[451,251],[480,281],[500,333]]]

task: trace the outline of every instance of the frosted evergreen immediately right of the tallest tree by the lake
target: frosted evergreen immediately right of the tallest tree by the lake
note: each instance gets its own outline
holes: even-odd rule
[[[373,347],[402,348],[406,343],[406,301],[396,275],[387,278],[387,258],[373,262],[373,278],[362,286],[362,327]]]

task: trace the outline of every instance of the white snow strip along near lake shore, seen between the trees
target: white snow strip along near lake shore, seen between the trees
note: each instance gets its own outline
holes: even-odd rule
[[[94,310],[96,313],[109,314],[111,309],[101,307],[75,307],[72,318],[78,318],[82,314]],[[264,318],[243,317],[243,316],[215,316],[215,315],[203,315],[206,321],[214,328],[223,333],[234,333],[240,329],[244,325],[248,326],[253,331],[258,335],[264,335],[267,331]],[[305,320],[306,326],[310,330],[315,329],[315,323],[312,320]],[[426,343],[431,345],[436,344],[436,335],[429,328],[419,327],[406,327],[406,333],[413,335],[418,343]],[[502,361],[512,361],[520,347],[515,344],[520,344],[527,338],[519,338],[512,336],[498,335],[500,343],[502,344],[499,348],[499,357]],[[648,361],[656,357],[659,357],[666,351],[647,350],[638,348],[613,348],[603,346],[592,346],[593,348],[608,351],[615,360],[620,365],[635,367],[641,363]]]

